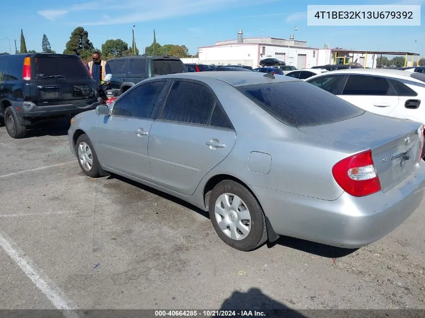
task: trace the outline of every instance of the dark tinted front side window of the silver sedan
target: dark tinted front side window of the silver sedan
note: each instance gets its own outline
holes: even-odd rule
[[[155,81],[137,86],[114,103],[112,115],[152,119],[156,100],[165,81]]]

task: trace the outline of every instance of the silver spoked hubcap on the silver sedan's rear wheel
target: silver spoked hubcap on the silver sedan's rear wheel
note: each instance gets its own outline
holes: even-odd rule
[[[246,204],[233,193],[223,193],[215,201],[215,219],[221,231],[232,240],[245,239],[251,230],[251,215]]]

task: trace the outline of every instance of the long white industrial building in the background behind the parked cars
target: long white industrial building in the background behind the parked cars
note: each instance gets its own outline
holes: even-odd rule
[[[184,63],[234,65],[243,64],[254,68],[260,65],[260,61],[265,58],[277,58],[286,62],[286,65],[293,65],[296,68],[310,68],[326,64],[342,64],[342,58],[346,61],[356,62],[363,67],[374,68],[377,66],[377,59],[381,55],[395,54],[406,56],[406,66],[411,65],[406,52],[360,52],[351,50],[335,50],[327,48],[312,48],[307,46],[306,41],[294,40],[290,36],[289,40],[280,38],[243,38],[242,30],[239,30],[237,39],[215,42],[212,46],[198,48],[198,58],[184,58]],[[336,58],[336,61],[335,61]]]

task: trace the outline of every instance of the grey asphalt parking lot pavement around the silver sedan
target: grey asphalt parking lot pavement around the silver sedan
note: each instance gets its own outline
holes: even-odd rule
[[[69,119],[14,140],[0,124],[0,309],[425,309],[425,205],[347,251],[291,238],[240,252],[187,203],[85,176]]]

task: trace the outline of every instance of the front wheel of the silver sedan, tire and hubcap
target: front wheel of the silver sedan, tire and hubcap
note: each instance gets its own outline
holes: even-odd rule
[[[101,176],[101,167],[96,155],[95,148],[89,136],[82,134],[75,144],[78,164],[82,172],[92,178]]]

